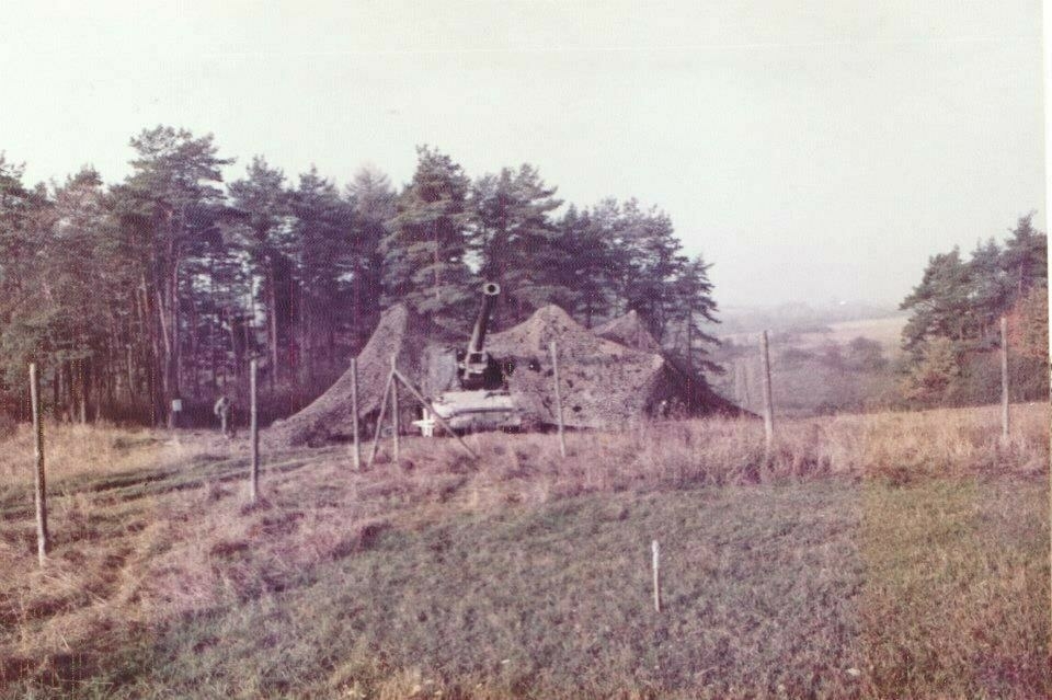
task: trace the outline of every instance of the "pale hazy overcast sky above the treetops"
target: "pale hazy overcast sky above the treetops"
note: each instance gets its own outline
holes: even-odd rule
[[[634,196],[724,306],[894,305],[928,255],[1045,228],[1041,3],[0,0],[0,150],[128,171],[132,135],[396,184],[414,147]]]

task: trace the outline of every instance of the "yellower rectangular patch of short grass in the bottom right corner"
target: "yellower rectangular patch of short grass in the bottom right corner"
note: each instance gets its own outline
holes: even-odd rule
[[[1047,481],[874,484],[865,503],[873,693],[1050,697]]]

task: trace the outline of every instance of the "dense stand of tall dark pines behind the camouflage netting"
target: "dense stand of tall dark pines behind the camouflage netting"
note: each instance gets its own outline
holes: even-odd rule
[[[504,290],[499,326],[549,302],[588,326],[636,310],[714,369],[708,265],[634,199],[564,206],[531,165],[471,179],[428,147],[401,188],[371,169],[293,180],[262,157],[225,183],[213,136],[169,126],[130,147],[116,184],[85,167],[31,186],[0,154],[0,413],[24,417],[35,362],[55,417],[163,424],[178,398],[191,422],[258,358],[264,411],[287,414],[393,303],[465,333],[482,279]]]

